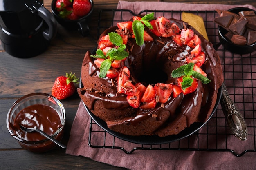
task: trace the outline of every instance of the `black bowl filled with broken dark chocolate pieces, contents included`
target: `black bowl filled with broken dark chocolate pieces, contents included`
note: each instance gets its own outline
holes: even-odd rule
[[[248,54],[256,51],[256,11],[245,7],[216,10],[220,43],[232,53]]]

